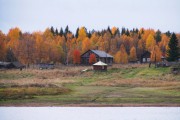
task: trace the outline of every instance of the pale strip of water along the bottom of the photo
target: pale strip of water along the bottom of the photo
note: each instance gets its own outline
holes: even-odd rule
[[[180,107],[0,107],[0,120],[180,120]]]

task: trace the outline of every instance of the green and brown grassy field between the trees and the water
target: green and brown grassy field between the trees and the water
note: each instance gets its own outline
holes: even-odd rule
[[[136,64],[1,70],[0,106],[180,106],[180,75]]]

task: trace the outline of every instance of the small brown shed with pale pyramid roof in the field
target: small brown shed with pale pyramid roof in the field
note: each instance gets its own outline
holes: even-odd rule
[[[95,71],[107,71],[107,64],[101,61],[93,64],[93,70]]]

